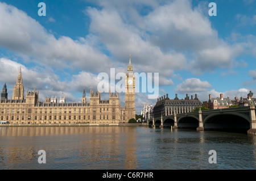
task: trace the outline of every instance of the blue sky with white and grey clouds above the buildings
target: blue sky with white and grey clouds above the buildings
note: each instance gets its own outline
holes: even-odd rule
[[[41,102],[81,102],[98,74],[126,73],[131,55],[134,72],[159,73],[159,96],[234,100],[256,94],[255,32],[255,0],[0,0],[0,87],[10,99],[21,66],[24,89],[39,89]],[[155,105],[148,94],[135,94],[137,114]]]

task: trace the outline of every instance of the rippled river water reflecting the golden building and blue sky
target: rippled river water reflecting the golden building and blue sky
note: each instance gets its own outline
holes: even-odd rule
[[[39,150],[46,151],[45,164],[38,163]],[[0,127],[0,169],[256,169],[256,136],[148,127]]]

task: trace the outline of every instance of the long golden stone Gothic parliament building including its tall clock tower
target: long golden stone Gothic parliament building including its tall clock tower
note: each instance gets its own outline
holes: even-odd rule
[[[125,79],[125,107],[119,102],[119,93],[109,91],[109,100],[101,100],[101,93],[90,90],[90,100],[86,100],[85,90],[81,103],[66,103],[61,96],[46,98],[39,102],[39,90],[26,91],[20,68],[13,96],[8,99],[6,84],[3,86],[0,102],[0,121],[10,124],[77,124],[89,125],[118,125],[128,123],[135,118],[135,77],[131,58],[127,66]]]

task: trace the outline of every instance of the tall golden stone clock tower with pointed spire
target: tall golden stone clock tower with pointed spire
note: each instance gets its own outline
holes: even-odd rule
[[[131,118],[135,119],[135,77],[133,65],[131,65],[131,55],[125,78],[125,117],[126,121]]]

